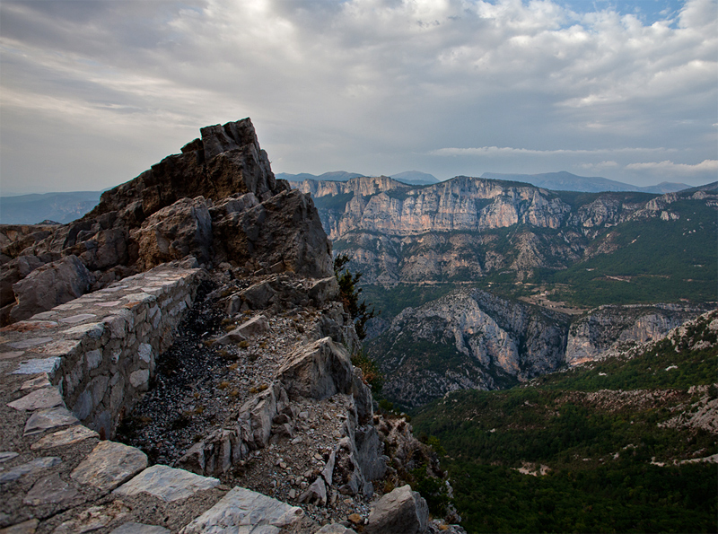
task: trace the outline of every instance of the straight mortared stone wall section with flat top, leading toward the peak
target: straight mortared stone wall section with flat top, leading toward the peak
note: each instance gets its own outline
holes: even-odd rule
[[[155,267],[2,328],[3,361],[47,372],[84,425],[113,437],[148,389],[155,358],[172,343],[197,292],[200,269]]]

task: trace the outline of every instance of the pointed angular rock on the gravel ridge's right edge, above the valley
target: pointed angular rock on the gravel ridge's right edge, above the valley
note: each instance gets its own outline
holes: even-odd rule
[[[322,399],[350,391],[354,374],[346,351],[324,337],[291,355],[277,377],[290,395]]]

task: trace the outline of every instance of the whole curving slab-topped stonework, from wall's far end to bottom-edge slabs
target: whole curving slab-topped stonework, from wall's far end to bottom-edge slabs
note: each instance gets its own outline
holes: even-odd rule
[[[0,533],[315,530],[299,508],[101,439],[146,389],[199,276],[156,267],[0,330]]]

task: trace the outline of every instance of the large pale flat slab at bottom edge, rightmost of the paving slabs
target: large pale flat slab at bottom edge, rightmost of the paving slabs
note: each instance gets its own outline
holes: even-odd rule
[[[298,506],[277,501],[243,487],[234,487],[212,508],[189,523],[180,534],[207,532],[254,532],[261,526],[262,534],[279,532],[284,527],[302,521],[304,512]],[[242,529],[241,527],[246,527]],[[274,527],[274,529],[271,529]]]

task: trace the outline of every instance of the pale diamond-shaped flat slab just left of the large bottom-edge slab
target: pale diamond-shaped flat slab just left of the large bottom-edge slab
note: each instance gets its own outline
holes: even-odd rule
[[[198,491],[211,489],[219,485],[219,480],[212,477],[202,477],[183,469],[155,465],[146,468],[132,480],[119,486],[113,494],[137,495],[147,493],[162,499],[167,503],[186,499]]]

